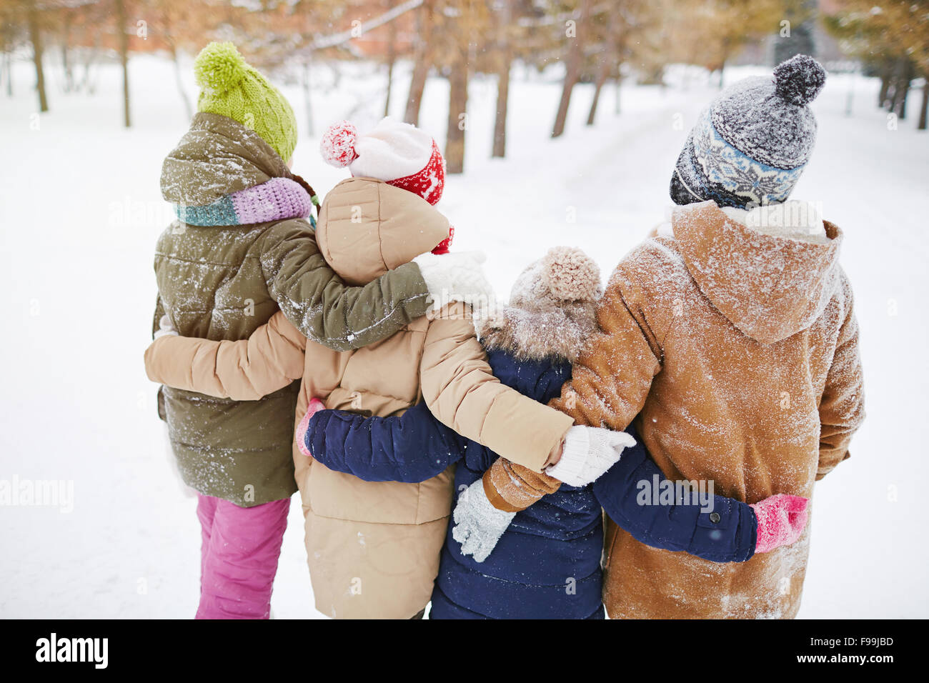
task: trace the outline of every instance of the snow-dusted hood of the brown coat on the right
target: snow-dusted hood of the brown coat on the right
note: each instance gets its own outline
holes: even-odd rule
[[[809,327],[839,286],[842,232],[828,240],[763,234],[727,217],[714,202],[674,210],[672,228],[700,291],[739,331],[768,345]]]

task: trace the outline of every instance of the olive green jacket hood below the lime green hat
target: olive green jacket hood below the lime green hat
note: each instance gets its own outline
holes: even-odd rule
[[[225,195],[293,174],[254,130],[228,116],[198,113],[162,164],[162,196],[172,204],[205,206]]]

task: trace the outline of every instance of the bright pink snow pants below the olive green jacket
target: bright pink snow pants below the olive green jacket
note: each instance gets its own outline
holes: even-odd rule
[[[290,498],[255,507],[198,493],[203,532],[197,619],[268,619]]]

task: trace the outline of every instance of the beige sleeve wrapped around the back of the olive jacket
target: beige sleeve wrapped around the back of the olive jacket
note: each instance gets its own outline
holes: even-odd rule
[[[145,372],[168,387],[257,401],[303,376],[306,345],[278,311],[240,341],[162,336],[145,351]]]

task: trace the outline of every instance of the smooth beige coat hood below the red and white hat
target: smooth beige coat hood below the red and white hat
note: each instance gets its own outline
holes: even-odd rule
[[[417,194],[371,177],[336,185],[320,209],[316,240],[348,284],[367,284],[438,246],[449,219]]]

